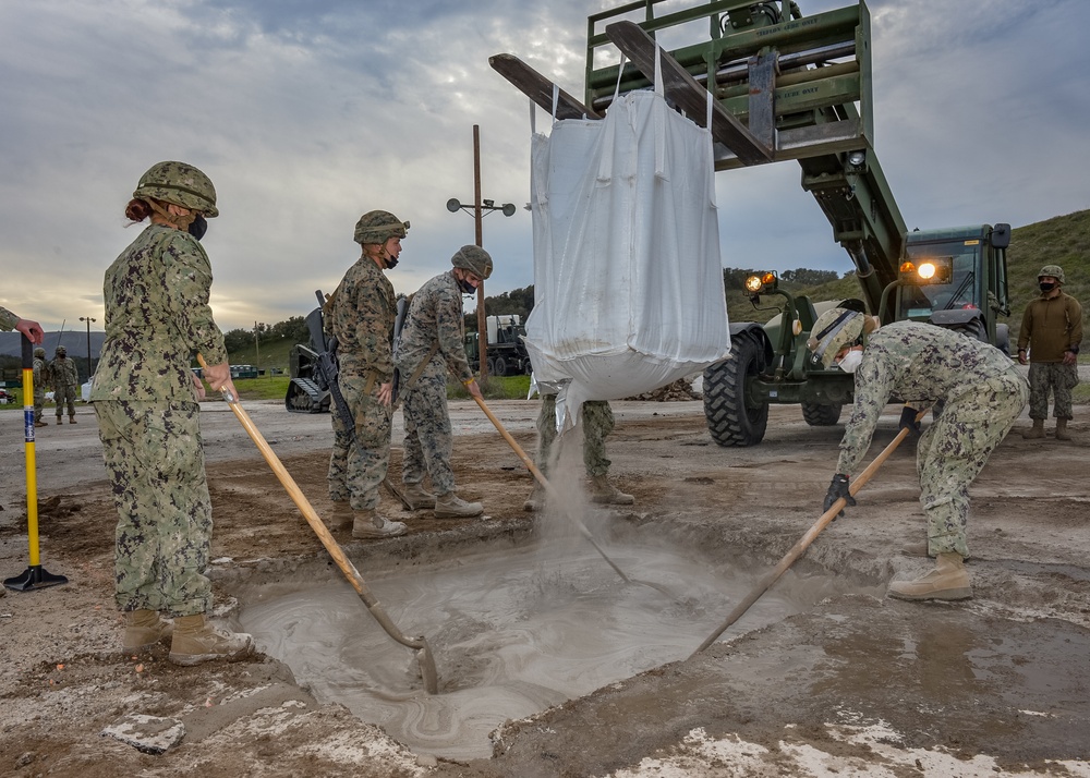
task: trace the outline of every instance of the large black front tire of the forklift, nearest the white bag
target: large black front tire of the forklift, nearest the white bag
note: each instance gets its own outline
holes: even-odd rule
[[[759,332],[731,336],[730,355],[704,369],[704,417],[712,440],[719,446],[756,446],[768,426],[768,402],[746,408],[746,380],[765,368],[764,342]]]

